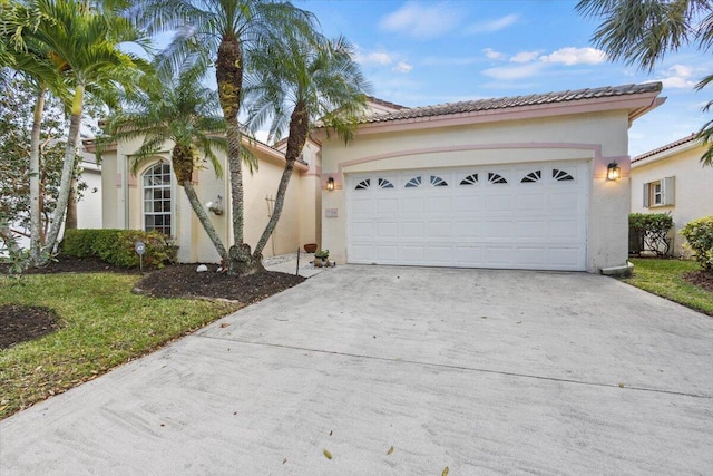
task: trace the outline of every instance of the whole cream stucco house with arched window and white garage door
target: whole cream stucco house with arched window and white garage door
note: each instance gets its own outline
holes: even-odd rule
[[[348,145],[318,130],[265,256],[305,243],[340,263],[616,272],[627,266],[628,128],[663,103],[660,82],[407,108],[375,98]],[[102,162],[105,227],[160,230],[183,262],[217,262],[160,153],[131,173],[138,142]],[[284,166],[245,139],[246,242],[257,241]],[[227,169],[225,158],[222,158]],[[608,179],[607,173],[617,175]],[[612,176],[611,178],[614,178]],[[195,174],[229,244],[229,185]],[[216,207],[221,202],[222,206]]]

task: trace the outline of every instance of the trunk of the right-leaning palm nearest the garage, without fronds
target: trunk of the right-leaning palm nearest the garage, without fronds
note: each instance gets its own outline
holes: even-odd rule
[[[297,157],[300,157],[302,148],[307,139],[310,130],[309,120],[310,118],[304,103],[297,103],[292,111],[292,117],[290,118],[290,136],[287,137],[287,149],[285,150],[286,163],[285,169],[282,172],[280,185],[277,186],[275,207],[273,208],[272,216],[270,217],[260,241],[257,241],[257,244],[255,245],[255,251],[253,253],[254,259],[262,259],[262,252],[267,244],[267,240],[270,240],[270,236],[272,236],[275,227],[277,226],[277,221],[280,220],[280,215],[282,214],[282,208],[285,203],[287,185],[290,185],[290,178],[294,171],[294,163]]]

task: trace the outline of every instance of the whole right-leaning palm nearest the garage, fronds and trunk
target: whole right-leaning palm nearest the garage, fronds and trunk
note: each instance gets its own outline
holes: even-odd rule
[[[253,258],[260,260],[280,220],[294,163],[310,132],[319,125],[349,142],[364,110],[368,84],[344,38],[329,41],[285,35],[267,48],[267,55],[256,51],[250,59],[255,72],[248,75],[246,85],[247,126],[257,130],[270,122],[270,138],[275,140],[287,130],[275,207],[254,250]]]

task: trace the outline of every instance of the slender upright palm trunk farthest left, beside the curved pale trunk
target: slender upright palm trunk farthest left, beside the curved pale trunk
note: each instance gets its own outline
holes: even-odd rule
[[[41,207],[40,207],[40,132],[42,128],[42,111],[45,110],[45,95],[47,88],[40,86],[32,114],[32,134],[30,136],[30,263],[40,264],[40,247],[42,246]]]

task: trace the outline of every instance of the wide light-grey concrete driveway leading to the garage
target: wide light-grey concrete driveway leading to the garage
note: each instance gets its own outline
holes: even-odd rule
[[[339,266],[0,422],[2,476],[446,467],[712,474],[713,319],[598,275]]]

